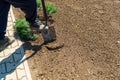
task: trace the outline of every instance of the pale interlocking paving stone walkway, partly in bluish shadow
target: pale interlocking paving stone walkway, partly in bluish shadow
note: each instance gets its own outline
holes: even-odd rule
[[[7,36],[14,36],[14,21],[13,11],[10,9]],[[24,54],[22,42],[19,39],[0,52],[0,80],[32,80]]]

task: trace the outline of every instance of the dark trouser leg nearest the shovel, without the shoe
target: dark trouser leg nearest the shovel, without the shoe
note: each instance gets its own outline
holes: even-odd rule
[[[20,8],[25,13],[25,18],[32,23],[37,18],[36,0],[8,0],[16,8]]]

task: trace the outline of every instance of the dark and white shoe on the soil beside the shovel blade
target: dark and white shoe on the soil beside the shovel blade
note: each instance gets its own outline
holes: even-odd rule
[[[43,29],[48,29],[48,26],[40,24],[40,21],[37,20],[37,19],[33,23],[30,23],[30,27],[31,27],[32,30],[36,30],[36,31],[41,31]]]

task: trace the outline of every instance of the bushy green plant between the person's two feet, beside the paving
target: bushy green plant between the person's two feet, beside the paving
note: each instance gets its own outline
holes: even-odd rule
[[[37,39],[36,34],[31,34],[29,23],[25,19],[19,19],[15,22],[14,28],[18,35],[24,40],[35,40]]]

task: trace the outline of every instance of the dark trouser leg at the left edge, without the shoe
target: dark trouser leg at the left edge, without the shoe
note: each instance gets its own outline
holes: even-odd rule
[[[10,9],[10,4],[1,0],[0,1],[0,40],[5,38],[9,9]]]

